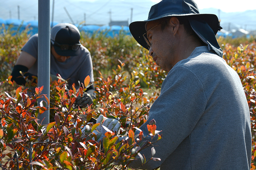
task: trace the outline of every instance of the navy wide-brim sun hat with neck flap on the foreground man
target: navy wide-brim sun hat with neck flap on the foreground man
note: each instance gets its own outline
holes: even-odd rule
[[[204,43],[208,44],[209,51],[222,57],[223,51],[215,37],[218,30],[222,29],[218,17],[215,14],[200,14],[193,0],[162,0],[151,7],[147,20],[132,22],[129,29],[135,40],[148,49],[143,38],[143,34],[146,33],[145,24],[165,17],[180,16],[188,17],[192,29]]]

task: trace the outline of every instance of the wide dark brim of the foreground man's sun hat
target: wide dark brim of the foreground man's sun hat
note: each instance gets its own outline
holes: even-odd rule
[[[181,17],[181,16],[188,16],[188,19],[191,17],[193,19],[198,20],[204,20],[206,21],[211,29],[213,30],[214,34],[216,35],[219,29],[219,20],[218,17],[215,14],[164,14],[159,17],[145,20],[145,21],[135,21],[130,23],[129,29],[132,34],[132,36],[135,38],[135,40],[143,46],[145,49],[148,49],[147,43],[143,38],[143,34],[145,34],[147,31],[145,29],[145,24],[148,21],[154,21],[165,17]],[[149,50],[149,49],[148,49]]]

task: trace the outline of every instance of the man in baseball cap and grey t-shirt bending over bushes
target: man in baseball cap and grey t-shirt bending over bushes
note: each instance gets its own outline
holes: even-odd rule
[[[22,47],[20,56],[12,71],[12,80],[17,84],[25,85],[26,80],[20,71],[29,79],[37,76],[38,34],[30,37]],[[60,23],[51,30],[50,73],[52,80],[62,78],[72,87],[80,86],[86,76],[94,82],[92,59],[88,49],[80,43],[80,32],[77,27],[69,23]],[[60,76],[59,76],[60,75]],[[93,85],[87,89],[88,100],[83,105],[91,104],[95,98]]]

